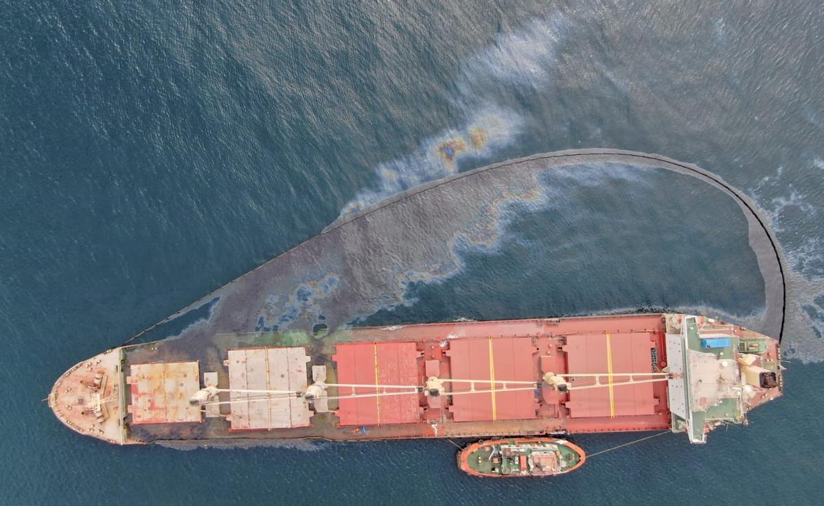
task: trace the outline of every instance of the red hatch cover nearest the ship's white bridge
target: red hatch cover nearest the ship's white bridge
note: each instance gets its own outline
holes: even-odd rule
[[[653,347],[648,333],[603,333],[567,337],[564,351],[567,353],[567,372],[580,373],[650,373],[652,364],[650,349]],[[636,378],[648,379],[648,378]],[[616,383],[629,378],[614,378]],[[601,378],[601,383],[606,383]],[[592,384],[590,378],[581,378],[573,384]],[[611,392],[610,392],[611,391]],[[622,385],[616,387],[588,388],[569,392],[569,415],[572,418],[588,416],[653,415],[657,401],[653,395],[653,383]]]

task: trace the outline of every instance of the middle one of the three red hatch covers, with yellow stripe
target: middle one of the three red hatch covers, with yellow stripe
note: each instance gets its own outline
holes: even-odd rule
[[[537,349],[530,337],[471,337],[449,341],[452,378],[494,379],[496,381],[537,381]],[[490,360],[491,359],[491,360]],[[491,366],[490,366],[491,362]],[[449,383],[453,392],[466,392],[469,383]],[[536,418],[535,389],[470,393],[452,397],[455,421],[524,420]],[[525,388],[508,385],[508,388]],[[490,383],[475,383],[475,390],[492,390]]]

